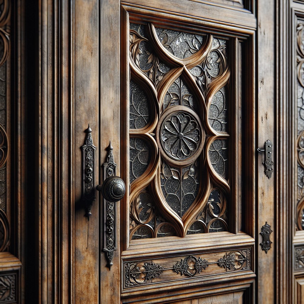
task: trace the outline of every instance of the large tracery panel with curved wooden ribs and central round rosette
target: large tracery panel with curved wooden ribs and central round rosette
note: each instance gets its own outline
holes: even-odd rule
[[[228,39],[130,23],[130,239],[227,230]]]

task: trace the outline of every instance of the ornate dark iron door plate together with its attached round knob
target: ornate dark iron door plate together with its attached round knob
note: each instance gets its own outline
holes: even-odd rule
[[[103,249],[107,259],[107,266],[113,266],[113,255],[116,248],[116,211],[115,202],[121,200],[126,193],[126,186],[123,180],[116,176],[117,164],[114,163],[113,147],[111,141],[107,147],[108,155],[103,168],[103,184],[96,189],[103,195],[104,233]]]

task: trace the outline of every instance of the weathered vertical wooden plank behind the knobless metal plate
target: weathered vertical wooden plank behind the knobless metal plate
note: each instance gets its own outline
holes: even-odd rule
[[[85,216],[81,200],[82,159],[80,147],[84,144],[88,124],[92,129],[95,150],[95,183],[97,184],[99,155],[99,2],[76,0],[74,26],[74,303],[98,303],[99,287],[99,203],[98,194],[93,202],[92,216]],[[96,185],[95,185],[96,186]]]

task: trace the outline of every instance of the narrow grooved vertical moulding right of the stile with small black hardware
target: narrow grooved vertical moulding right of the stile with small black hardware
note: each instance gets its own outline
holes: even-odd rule
[[[289,3],[286,1],[280,1],[276,9],[276,23],[278,26],[277,31],[277,44],[276,49],[278,51],[278,58],[276,62],[277,71],[279,77],[276,78],[276,87],[277,87],[277,119],[276,119],[276,128],[278,130],[277,134],[277,152],[276,159],[277,161],[277,172],[280,174],[276,175],[277,185],[276,185],[276,200],[278,204],[276,205],[275,212],[278,215],[276,223],[276,238],[278,241],[277,252],[276,252],[276,264],[277,266],[277,280],[276,280],[276,295],[277,299],[281,303],[292,302],[292,285],[293,279],[291,277],[291,265],[288,267],[279,267],[279,265],[288,265],[290,263],[291,253],[291,241],[292,241],[292,231],[294,229],[292,210],[293,210],[293,198],[288,199],[288,188],[294,182],[294,175],[288,174],[288,167],[294,169],[294,165],[290,164],[290,157],[293,155],[292,144],[290,143],[289,135],[285,130],[288,130],[290,124],[288,123],[288,117],[292,117],[292,108],[288,106],[289,100],[289,85],[288,85],[288,74],[289,69],[292,70],[292,67],[289,63],[289,50],[287,37],[289,35],[288,31],[288,10]],[[291,112],[290,112],[291,110]],[[292,130],[292,127],[290,128]],[[279,135],[280,134],[280,135]],[[292,137],[292,136],[291,136]],[[286,147],[290,149],[285,149]],[[285,153],[282,153],[284,151]],[[290,168],[290,167],[289,167]],[[283,210],[283,212],[282,212]],[[284,212],[284,210],[286,210]],[[291,210],[291,212],[288,212]],[[287,229],[282,229],[286,227]]]

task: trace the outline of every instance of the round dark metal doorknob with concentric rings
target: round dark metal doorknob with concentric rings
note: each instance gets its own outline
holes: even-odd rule
[[[110,202],[120,201],[126,193],[126,185],[119,176],[111,176],[105,179],[102,186],[96,187],[102,192],[104,199]]]

